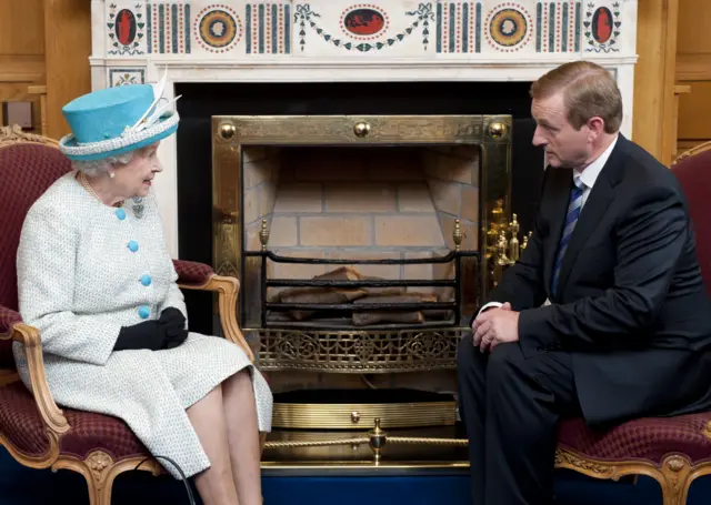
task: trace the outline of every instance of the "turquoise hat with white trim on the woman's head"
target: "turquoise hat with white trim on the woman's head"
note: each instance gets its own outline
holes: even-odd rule
[[[62,108],[71,133],[59,141],[59,148],[71,160],[100,160],[172,134],[179,117],[171,109],[174,100],[162,100],[164,83],[163,77],[156,87],[120,85],[72,100]]]

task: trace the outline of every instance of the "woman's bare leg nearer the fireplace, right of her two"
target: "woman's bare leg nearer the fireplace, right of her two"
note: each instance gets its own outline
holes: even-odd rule
[[[226,380],[222,392],[237,495],[240,505],[259,505],[262,503],[261,450],[257,404],[249,372],[243,370]]]

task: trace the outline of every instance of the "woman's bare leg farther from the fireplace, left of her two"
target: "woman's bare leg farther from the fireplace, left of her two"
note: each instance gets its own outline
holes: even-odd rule
[[[210,467],[196,476],[204,505],[238,505],[228,452],[222,390],[217,386],[188,408],[188,417],[210,459]]]

